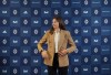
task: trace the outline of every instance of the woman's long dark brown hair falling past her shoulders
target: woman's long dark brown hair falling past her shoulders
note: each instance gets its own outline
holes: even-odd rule
[[[60,30],[65,30],[64,22],[60,15],[54,15],[52,19],[56,19],[59,22]],[[53,34],[53,31],[54,31],[54,29],[53,29],[53,26],[51,26],[50,33]]]

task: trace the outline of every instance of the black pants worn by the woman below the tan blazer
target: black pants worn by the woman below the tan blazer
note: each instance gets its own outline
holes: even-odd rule
[[[53,66],[48,66],[48,75],[58,75],[58,74],[68,75],[68,66],[59,67],[58,53],[54,53]]]

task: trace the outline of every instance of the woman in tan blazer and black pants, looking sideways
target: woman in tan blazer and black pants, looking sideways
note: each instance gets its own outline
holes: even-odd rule
[[[42,49],[42,44],[48,43],[48,50]],[[67,45],[70,47],[67,49]],[[52,28],[46,32],[43,38],[38,43],[38,50],[44,58],[44,64],[48,65],[48,74],[68,75],[69,58],[68,54],[75,50],[75,44],[65,30],[61,17],[53,17]]]

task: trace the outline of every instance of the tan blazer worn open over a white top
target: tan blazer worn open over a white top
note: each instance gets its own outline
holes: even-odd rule
[[[42,36],[42,39],[38,43],[38,50],[39,52],[42,49],[42,44],[46,43],[48,44],[48,55],[49,58],[44,58],[44,64],[52,66],[53,62],[53,55],[54,55],[54,34],[50,34],[49,31],[46,32],[46,34]],[[67,45],[70,44],[70,47],[67,49]],[[63,49],[68,50],[68,53],[71,53],[75,50],[75,44],[71,38],[71,34],[69,31],[61,30],[60,31],[60,40],[59,40],[59,51],[62,51]],[[69,65],[69,58],[68,54],[64,56],[59,56],[59,67],[68,66]]]

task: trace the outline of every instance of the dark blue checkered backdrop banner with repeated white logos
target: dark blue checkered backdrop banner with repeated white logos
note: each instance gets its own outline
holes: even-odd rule
[[[54,14],[77,44],[69,75],[111,75],[111,0],[0,0],[0,75],[48,75],[37,44]]]

